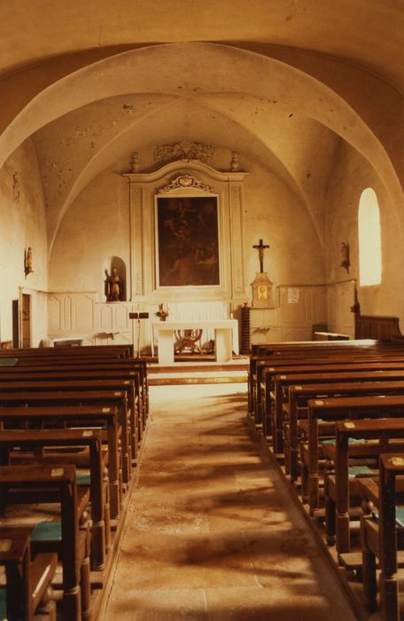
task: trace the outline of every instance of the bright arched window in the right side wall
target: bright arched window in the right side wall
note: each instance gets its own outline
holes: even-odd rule
[[[382,282],[382,242],[380,209],[371,187],[361,193],[358,211],[359,283],[361,286]]]

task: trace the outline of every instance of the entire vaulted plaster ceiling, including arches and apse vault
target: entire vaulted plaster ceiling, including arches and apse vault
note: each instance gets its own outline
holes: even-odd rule
[[[0,18],[0,162],[34,139],[50,242],[101,170],[165,141],[256,159],[318,230],[340,140],[402,194],[403,0],[13,0]]]

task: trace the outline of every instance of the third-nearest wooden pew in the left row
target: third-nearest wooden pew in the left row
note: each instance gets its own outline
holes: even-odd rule
[[[69,462],[73,465],[75,455],[72,447],[89,448],[89,499],[91,502],[91,557],[92,567],[96,571],[105,569],[105,485],[103,476],[102,457],[102,432],[101,429],[5,429],[0,434],[0,464],[11,466],[16,462],[26,461],[28,465],[41,463],[53,463],[55,467],[64,466]],[[70,452],[58,454],[52,452],[46,456],[41,453],[38,457],[37,450],[45,447],[69,448]],[[34,460],[19,458],[12,460],[12,450],[19,448],[34,451]],[[19,457],[19,454],[14,455]],[[51,458],[51,459],[50,459]],[[38,462],[38,463],[37,463]],[[106,482],[108,484],[108,482]],[[109,512],[109,506],[107,506]],[[109,515],[107,516],[107,528],[110,528]],[[109,538],[109,537],[108,537]]]

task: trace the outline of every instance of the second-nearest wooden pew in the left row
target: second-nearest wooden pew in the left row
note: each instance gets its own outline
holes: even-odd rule
[[[80,515],[87,500],[83,498],[79,503],[75,476],[74,466],[0,467],[2,513],[10,506],[12,498],[19,504],[32,501],[30,491],[35,492],[37,502],[58,502],[60,506],[61,542],[52,540],[46,547],[51,548],[51,551],[57,550],[62,562],[63,618],[66,621],[80,621],[82,617],[91,617],[87,533],[79,531]],[[34,530],[31,535],[34,554],[36,547],[43,549],[43,545],[35,540],[35,532]]]

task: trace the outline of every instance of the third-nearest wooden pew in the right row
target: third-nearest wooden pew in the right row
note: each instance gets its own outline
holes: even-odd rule
[[[333,397],[308,402],[307,446],[302,445],[302,466],[307,468],[308,503],[310,513],[319,507],[319,418],[330,421],[334,428],[338,419],[361,419],[364,416],[404,416],[404,396]],[[302,482],[303,484],[303,482]]]

